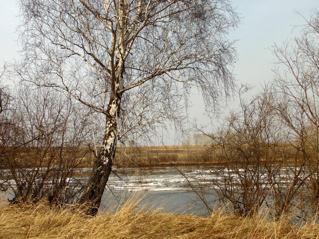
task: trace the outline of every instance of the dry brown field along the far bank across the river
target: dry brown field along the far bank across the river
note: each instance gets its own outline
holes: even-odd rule
[[[281,151],[275,152],[277,161],[281,161],[282,153],[293,155],[294,150],[289,144],[279,145]],[[212,150],[213,147],[213,150]],[[278,147],[277,147],[278,148]],[[100,147],[95,149],[98,153]],[[46,148],[20,148],[16,162],[28,167],[35,164],[39,166],[59,163],[68,163],[73,168],[91,167],[95,158],[88,147],[82,146],[77,149],[67,147],[62,150],[60,156],[59,148],[51,148],[49,156],[38,157]],[[33,152],[35,151],[35,152]],[[219,155],[219,156],[218,156]],[[114,166],[155,166],[155,165],[216,165],[226,163],[223,157],[220,158],[221,148],[218,145],[181,145],[181,146],[138,146],[138,147],[117,147]],[[285,156],[286,157],[286,156]],[[39,158],[41,159],[39,162]],[[234,157],[235,158],[235,157]],[[288,157],[286,157],[288,158]],[[57,162],[57,163],[56,163]],[[238,161],[239,163],[239,161]],[[50,165],[50,166],[51,166]]]

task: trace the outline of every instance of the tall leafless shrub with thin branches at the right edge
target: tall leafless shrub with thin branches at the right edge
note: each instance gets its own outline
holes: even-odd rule
[[[303,208],[306,215],[316,214],[319,207],[318,19],[319,13],[314,12],[300,37],[273,49],[279,64],[274,82],[277,111],[295,139],[291,145],[296,150],[295,164],[300,171],[296,171],[297,178],[308,192],[304,197],[308,207]]]

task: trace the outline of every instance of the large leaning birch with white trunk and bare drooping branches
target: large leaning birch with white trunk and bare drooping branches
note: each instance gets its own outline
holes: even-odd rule
[[[235,52],[226,35],[238,16],[226,0],[24,0],[20,7],[22,79],[66,91],[104,117],[80,200],[92,215],[117,141],[181,122],[191,87],[207,112],[231,91]]]

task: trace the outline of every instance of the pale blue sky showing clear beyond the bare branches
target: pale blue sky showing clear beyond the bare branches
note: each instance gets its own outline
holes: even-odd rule
[[[15,0],[1,1],[0,8],[0,61],[18,60],[19,45],[15,28],[19,24],[19,8]],[[237,12],[241,14],[241,24],[230,33],[230,38],[238,39],[236,43],[238,59],[235,63],[234,73],[239,82],[251,83],[257,87],[260,84],[271,81],[273,78],[274,57],[268,50],[274,42],[281,44],[287,38],[300,34],[301,27],[293,29],[295,25],[305,24],[305,20],[295,12],[300,12],[309,19],[311,10],[318,8],[315,0],[237,0],[233,2],[237,6]],[[254,93],[254,92],[251,92]],[[194,107],[190,109],[191,118],[197,118],[199,123],[210,122],[204,114],[202,100],[197,95],[192,97]],[[236,107],[235,102],[230,107]],[[216,122],[216,121],[215,121]],[[209,130],[209,129],[208,129]],[[167,138],[164,143],[174,144],[174,139]],[[176,142],[178,143],[178,142]]]

